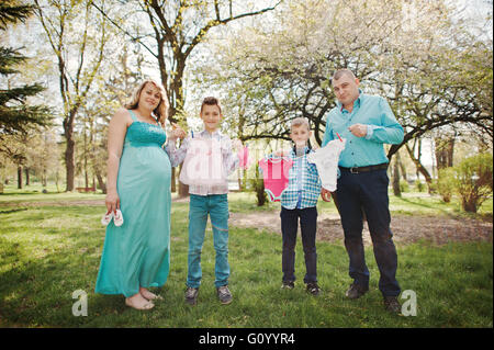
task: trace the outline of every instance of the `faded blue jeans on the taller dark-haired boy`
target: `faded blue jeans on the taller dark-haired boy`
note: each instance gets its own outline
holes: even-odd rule
[[[228,284],[228,197],[227,194],[190,195],[189,206],[189,257],[187,285],[201,285],[201,251],[204,242],[207,214],[213,227],[213,242],[216,251],[215,281],[220,287]]]

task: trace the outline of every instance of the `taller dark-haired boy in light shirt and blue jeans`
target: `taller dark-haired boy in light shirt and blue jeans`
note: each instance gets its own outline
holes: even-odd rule
[[[215,281],[216,294],[222,304],[229,304],[233,300],[232,293],[228,290],[228,183],[225,172],[231,173],[238,166],[238,157],[232,153],[232,142],[228,136],[220,133],[218,127],[222,120],[222,110],[217,99],[205,98],[201,105],[200,116],[204,123],[204,129],[200,133],[192,134],[187,137],[179,149],[176,148],[176,139],[183,138],[184,132],[176,126],[172,132],[166,150],[170,157],[172,167],[177,167],[184,161],[188,156],[188,149],[193,149],[192,143],[200,140],[203,145],[221,145],[214,150],[212,147],[209,151],[201,154],[200,159],[193,159],[190,165],[201,163],[204,155],[212,155],[213,163],[223,167],[223,177],[217,177],[217,169],[205,169],[205,173],[211,173],[211,170],[216,171],[215,179],[206,179],[204,181],[204,169],[195,171],[194,167],[186,162],[182,167],[182,172],[188,171],[188,179],[192,179],[189,183],[190,206],[189,206],[189,255],[188,255],[188,276],[186,290],[186,303],[195,305],[199,295],[199,286],[201,284],[201,250],[204,242],[204,233],[207,224],[207,214],[211,217],[211,225],[213,227],[213,241],[216,251],[215,261]],[[238,144],[239,142],[237,142]],[[242,144],[240,144],[242,145]],[[239,146],[239,145],[237,145]],[[212,150],[213,149],[213,150]],[[192,154],[189,153],[189,154]],[[194,155],[189,155],[194,157]],[[221,159],[220,159],[221,158]],[[207,163],[207,162],[206,162]],[[202,162],[204,165],[204,162]],[[190,169],[189,169],[190,168]],[[220,171],[221,173],[221,171]],[[194,176],[200,178],[193,183]],[[220,179],[218,179],[220,178]],[[181,177],[182,179],[182,177]]]

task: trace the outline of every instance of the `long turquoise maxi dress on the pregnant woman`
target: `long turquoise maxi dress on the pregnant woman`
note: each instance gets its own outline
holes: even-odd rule
[[[170,179],[166,133],[158,126],[133,123],[125,135],[116,191],[124,218],[106,226],[96,293],[137,294],[139,286],[161,286],[170,270]]]

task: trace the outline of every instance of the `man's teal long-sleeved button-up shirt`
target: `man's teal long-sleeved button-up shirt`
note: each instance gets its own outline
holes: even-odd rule
[[[357,137],[348,129],[353,124],[366,124],[367,135]],[[345,168],[375,166],[389,162],[383,144],[401,144],[403,127],[397,123],[388,101],[381,97],[364,94],[360,91],[349,113],[340,102],[327,113],[326,132],[323,147],[332,139],[347,139],[339,156],[338,165]]]

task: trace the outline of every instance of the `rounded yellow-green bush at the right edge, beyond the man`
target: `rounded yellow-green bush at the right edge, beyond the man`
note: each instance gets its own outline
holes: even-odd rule
[[[479,154],[453,168],[456,190],[465,212],[476,213],[479,206],[492,194],[492,161],[491,154]]]

